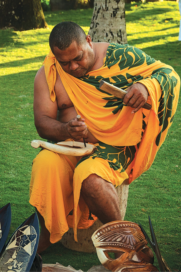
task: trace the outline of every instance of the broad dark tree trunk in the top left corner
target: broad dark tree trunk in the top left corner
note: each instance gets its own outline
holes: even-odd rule
[[[0,28],[29,30],[47,27],[40,0],[0,0]]]

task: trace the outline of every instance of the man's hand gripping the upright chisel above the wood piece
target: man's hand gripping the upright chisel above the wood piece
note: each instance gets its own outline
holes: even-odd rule
[[[81,121],[77,121],[77,118],[71,119],[68,123],[66,123],[67,126],[67,132],[70,135],[71,139],[74,140],[81,140],[83,137],[86,138],[88,134],[87,126],[84,123],[85,119],[82,119]]]

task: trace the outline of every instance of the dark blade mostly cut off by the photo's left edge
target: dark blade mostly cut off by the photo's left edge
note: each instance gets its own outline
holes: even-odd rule
[[[6,242],[11,225],[11,205],[8,203],[0,209],[0,255]]]

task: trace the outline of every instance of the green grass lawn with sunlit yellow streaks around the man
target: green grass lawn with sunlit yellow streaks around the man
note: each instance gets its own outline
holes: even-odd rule
[[[45,12],[46,29],[0,30],[0,207],[11,202],[10,234],[34,212],[29,204],[31,163],[37,152],[30,141],[40,139],[33,121],[33,81],[49,52],[52,27],[74,21],[88,32],[92,9]],[[174,67],[181,77],[179,7],[174,1],[126,4],[128,43]],[[160,251],[172,271],[181,270],[181,105],[168,136],[150,169],[132,182],[125,220],[140,221],[149,233],[150,215]],[[100,264],[96,254],[51,245],[44,263],[59,262],[87,271]],[[158,266],[155,260],[155,265]]]

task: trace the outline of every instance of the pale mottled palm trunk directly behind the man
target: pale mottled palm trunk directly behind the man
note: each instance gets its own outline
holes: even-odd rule
[[[124,0],[94,0],[89,34],[93,42],[127,43]]]

